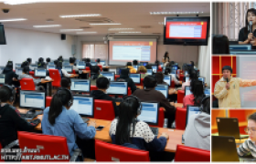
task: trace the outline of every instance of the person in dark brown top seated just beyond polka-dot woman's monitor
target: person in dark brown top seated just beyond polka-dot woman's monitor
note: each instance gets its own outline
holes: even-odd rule
[[[145,89],[137,89],[133,96],[138,97],[141,101],[158,102],[160,107],[165,108],[165,118],[168,118],[167,127],[171,128],[176,117],[176,108],[172,106],[165,96],[155,90],[157,82],[154,76],[144,77]]]

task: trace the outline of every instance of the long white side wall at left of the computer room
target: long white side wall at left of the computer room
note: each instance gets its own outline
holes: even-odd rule
[[[0,46],[0,66],[5,66],[7,60],[22,63],[27,57],[32,63],[39,57],[57,59],[60,55],[69,58],[71,46],[76,44],[76,36],[66,36],[60,39],[60,34],[37,32],[33,30],[5,28],[7,45]]]

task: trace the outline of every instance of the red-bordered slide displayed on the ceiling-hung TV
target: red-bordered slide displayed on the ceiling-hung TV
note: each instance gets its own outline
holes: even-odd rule
[[[167,22],[166,38],[206,39],[207,22]]]

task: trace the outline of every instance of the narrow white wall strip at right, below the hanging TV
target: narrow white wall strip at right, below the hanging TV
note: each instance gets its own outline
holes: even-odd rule
[[[210,37],[208,37],[208,46],[199,46],[198,69],[200,77],[206,77],[206,83],[210,87]]]

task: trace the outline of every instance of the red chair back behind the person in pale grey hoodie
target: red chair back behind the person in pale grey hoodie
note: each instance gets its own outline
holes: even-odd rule
[[[210,151],[205,149],[197,149],[186,147],[184,145],[176,146],[175,161],[191,162],[191,161],[210,161]]]

